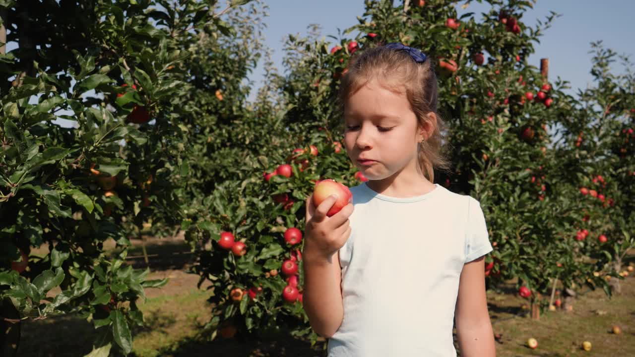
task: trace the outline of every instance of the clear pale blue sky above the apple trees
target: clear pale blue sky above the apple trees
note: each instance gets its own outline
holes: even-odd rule
[[[264,30],[265,43],[274,50],[272,60],[280,73],[283,73],[283,38],[288,34],[307,35],[309,24],[319,24],[321,35],[337,36],[337,29],[347,29],[358,23],[358,16],[364,13],[363,0],[319,0],[290,1],[265,0],[269,6],[269,17],[264,18],[267,28]],[[401,2],[401,1],[399,1]],[[460,2],[459,4],[464,4]],[[480,13],[489,9],[489,4],[472,3],[459,13]],[[549,79],[554,81],[558,76],[570,82],[570,94],[576,88],[584,88],[591,81],[591,41],[603,40],[606,48],[612,48],[618,54],[631,55],[635,61],[635,30],[632,27],[632,14],[635,13],[635,1],[612,0],[558,0],[537,1],[533,10],[523,17],[523,22],[535,25],[536,19],[544,20],[549,11],[562,16],[554,19],[551,28],[547,29],[540,43],[535,44],[535,53],[528,60],[530,64],[540,67],[540,58],[549,58]],[[352,37],[354,34],[348,34]],[[326,38],[328,41],[333,41]],[[257,88],[262,85],[264,60],[248,76],[255,86],[250,98],[255,97]],[[616,64],[617,71],[622,67]]]

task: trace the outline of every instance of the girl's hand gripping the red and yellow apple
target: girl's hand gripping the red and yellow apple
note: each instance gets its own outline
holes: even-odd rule
[[[335,195],[328,196],[318,206],[313,205],[313,194],[306,201],[306,225],[304,259],[330,262],[333,254],[344,246],[351,236],[351,222],[349,217],[353,212],[353,205],[349,203],[340,212],[331,217],[326,213],[336,201]]]

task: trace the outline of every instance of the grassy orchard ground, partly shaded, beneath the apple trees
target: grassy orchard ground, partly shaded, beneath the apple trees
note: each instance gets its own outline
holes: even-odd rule
[[[156,254],[150,257],[150,278],[168,277],[170,282],[160,289],[147,289],[147,301],[138,302],[146,325],[133,328],[133,356],[324,356],[322,344],[311,347],[286,335],[250,342],[219,337],[208,342],[200,334],[213,311],[206,302],[211,294],[208,285],[199,289],[198,276],[184,273],[189,261],[180,254],[185,250],[182,242],[156,241],[147,245],[148,253]],[[627,262],[635,262],[633,253]],[[143,258],[131,263],[145,267]],[[526,300],[507,293],[513,290],[513,281],[508,283],[499,292],[488,291],[493,330],[502,334],[496,342],[497,356],[635,356],[635,274],[622,281],[621,295],[608,299],[601,289],[583,290],[572,312],[546,311],[538,321],[525,317],[528,310],[521,306]],[[613,325],[619,325],[622,333],[610,333]],[[22,325],[18,355],[83,356],[91,350],[94,336],[92,323],[76,316],[27,321]],[[537,349],[526,346],[530,337],[538,340]],[[591,351],[581,349],[584,340],[592,343]]]

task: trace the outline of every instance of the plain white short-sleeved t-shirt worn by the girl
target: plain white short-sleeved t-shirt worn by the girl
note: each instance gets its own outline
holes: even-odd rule
[[[479,201],[435,184],[394,198],[351,187],[351,236],[340,248],[344,320],[329,357],[455,357],[458,281],[491,252]]]

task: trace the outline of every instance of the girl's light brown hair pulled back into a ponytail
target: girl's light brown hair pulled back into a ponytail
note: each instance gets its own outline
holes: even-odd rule
[[[337,110],[341,118],[344,118],[346,100],[372,79],[377,79],[382,86],[396,93],[405,90],[419,125],[423,126],[429,121],[428,113],[432,112],[436,116],[432,134],[418,145],[418,168],[424,177],[434,183],[434,168],[449,172],[451,161],[441,151],[446,124],[437,112],[438,84],[431,58],[418,64],[405,51],[384,46],[355,51],[348,71],[340,82]]]

